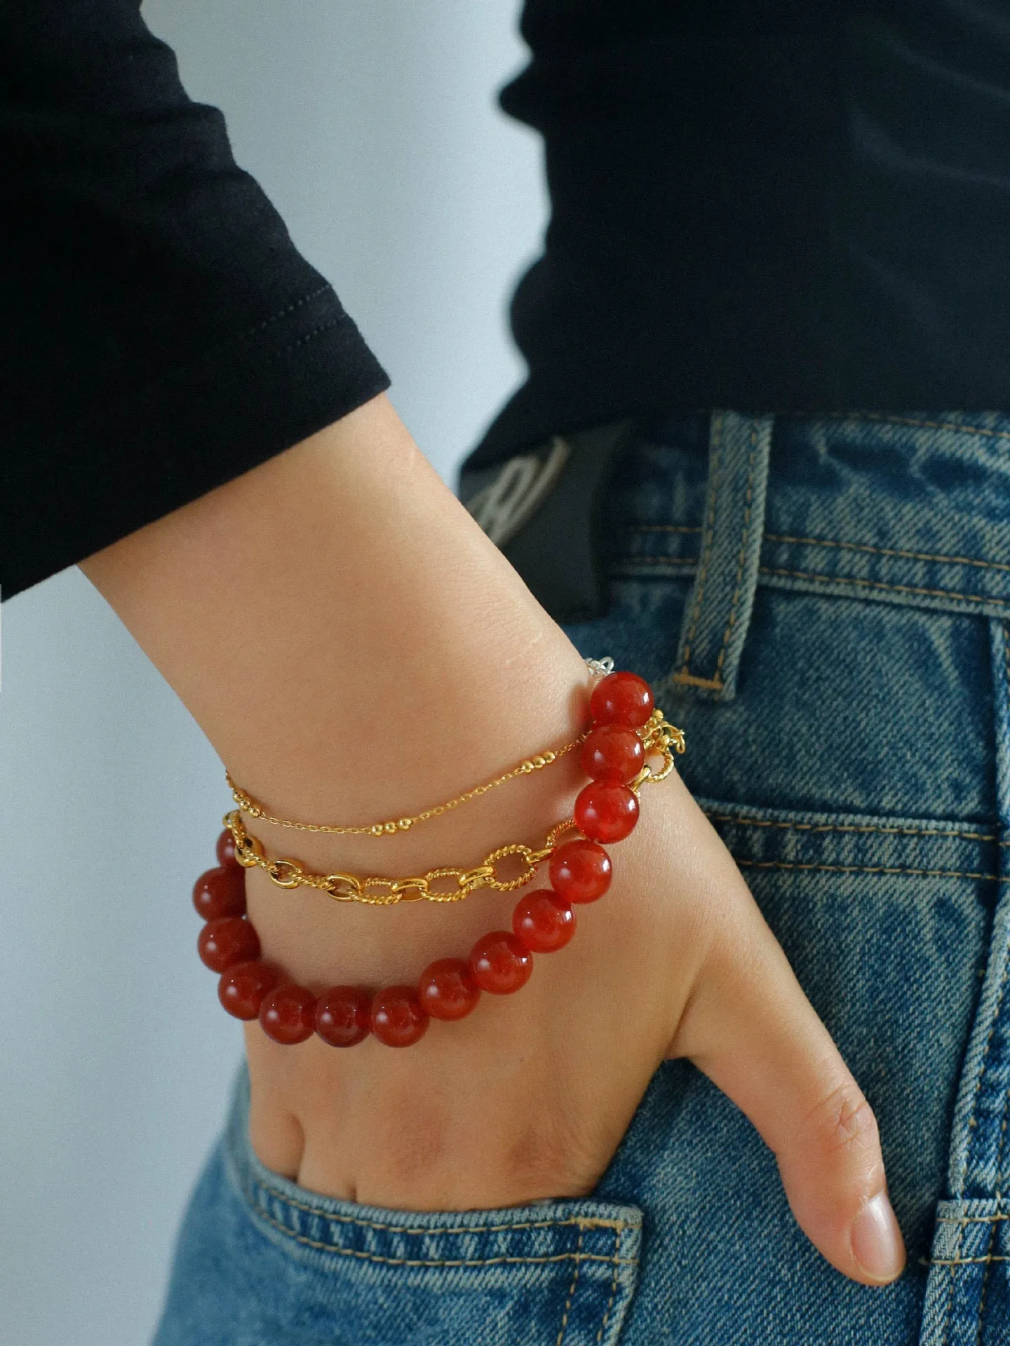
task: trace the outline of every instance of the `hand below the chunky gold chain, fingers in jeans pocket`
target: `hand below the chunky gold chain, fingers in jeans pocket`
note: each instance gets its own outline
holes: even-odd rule
[[[793,1214],[828,1261],[865,1283],[893,1279],[904,1250],[873,1112],[676,774],[642,790],[641,821],[611,855],[614,883],[575,909],[566,949],[536,956],[517,995],[485,993],[413,1047],[281,1047],[249,1024],[257,1155],[314,1191],[386,1207],[579,1197],[660,1061],[687,1057],[774,1151]],[[316,991],[413,980],[431,958],[509,929],[516,900],[483,891],[450,909],[376,911],[298,890],[292,911],[260,871],[246,886],[265,956]]]

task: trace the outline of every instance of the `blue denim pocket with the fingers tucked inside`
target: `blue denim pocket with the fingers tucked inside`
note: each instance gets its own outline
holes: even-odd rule
[[[268,1170],[241,1073],[194,1194],[158,1346],[606,1346],[636,1288],[642,1214],[586,1199],[404,1211]]]

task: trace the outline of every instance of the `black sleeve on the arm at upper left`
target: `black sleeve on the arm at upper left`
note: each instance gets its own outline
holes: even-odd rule
[[[0,586],[389,386],[139,0],[0,8]]]

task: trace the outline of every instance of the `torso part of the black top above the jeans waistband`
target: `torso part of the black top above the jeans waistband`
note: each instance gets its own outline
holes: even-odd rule
[[[1005,0],[528,0],[529,380],[470,466],[637,412],[1010,406]]]

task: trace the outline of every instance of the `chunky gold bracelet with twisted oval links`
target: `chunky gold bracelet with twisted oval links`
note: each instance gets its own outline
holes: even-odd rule
[[[659,708],[652,712],[649,720],[638,734],[645,755],[661,756],[663,766],[659,771],[653,771],[648,763],[641,769],[638,775],[629,783],[629,789],[634,790],[636,794],[642,785],[665,779],[673,770],[673,752],[684,751],[683,730],[668,724],[663,711]],[[576,742],[582,742],[582,739]],[[574,746],[571,744],[571,747]],[[417,875],[416,878],[389,879],[370,875],[362,879],[354,874],[310,874],[296,860],[285,857],[271,860],[264,853],[260,840],[246,830],[240,809],[226,813],[222,821],[234,840],[236,860],[246,870],[253,865],[259,867],[279,888],[310,887],[326,892],[335,902],[364,902],[369,906],[393,906],[397,902],[419,900],[459,902],[475,888],[494,888],[498,892],[510,892],[514,888],[523,888],[533,880],[537,865],[551,859],[558,847],[558,837],[575,826],[574,818],[566,818],[548,832],[547,840],[540,849],[513,841],[509,845],[492,851],[481,864],[470,870],[442,865],[436,870],[428,870],[427,874]],[[329,830],[326,828],[310,828],[307,824],[292,825],[302,826],[304,830]],[[523,872],[513,879],[500,878],[496,864],[510,855],[520,857],[524,865]],[[452,879],[455,887],[448,891],[434,888],[432,883],[436,883],[439,879]]]

